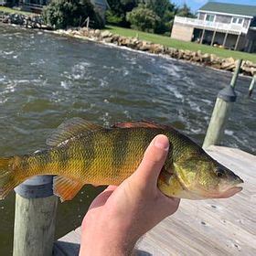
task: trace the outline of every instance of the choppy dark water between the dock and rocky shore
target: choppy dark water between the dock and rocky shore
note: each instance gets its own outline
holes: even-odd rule
[[[171,123],[201,144],[219,90],[231,75],[79,39],[0,26],[0,155],[45,147],[71,117],[109,125],[129,120]],[[223,144],[255,154],[255,93],[238,81],[238,101]],[[59,204],[57,237],[80,225],[101,188],[84,187]],[[0,201],[0,254],[12,250],[14,199]]]

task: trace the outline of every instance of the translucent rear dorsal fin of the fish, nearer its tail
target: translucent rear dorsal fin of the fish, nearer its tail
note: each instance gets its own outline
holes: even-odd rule
[[[80,117],[74,117],[61,123],[59,127],[49,136],[47,144],[57,146],[68,139],[78,136],[80,133],[100,130],[102,127],[98,124],[89,123]]]

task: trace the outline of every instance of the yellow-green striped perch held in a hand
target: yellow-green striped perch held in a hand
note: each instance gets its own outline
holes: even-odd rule
[[[81,187],[120,185],[140,165],[157,134],[169,139],[169,151],[157,187],[167,197],[231,197],[243,183],[224,165],[171,125],[115,123],[110,127],[72,118],[48,137],[48,148],[30,155],[0,157],[0,199],[32,176],[51,175],[54,194],[71,200]]]

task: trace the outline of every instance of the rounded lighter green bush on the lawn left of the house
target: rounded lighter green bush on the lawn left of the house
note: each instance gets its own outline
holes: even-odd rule
[[[145,5],[139,5],[132,12],[127,13],[127,20],[134,29],[146,32],[154,32],[160,22],[159,16]]]

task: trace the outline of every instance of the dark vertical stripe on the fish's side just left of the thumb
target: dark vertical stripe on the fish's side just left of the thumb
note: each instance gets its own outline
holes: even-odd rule
[[[118,176],[128,154],[129,132],[127,129],[116,129],[112,142],[112,173]]]

